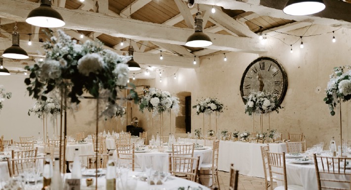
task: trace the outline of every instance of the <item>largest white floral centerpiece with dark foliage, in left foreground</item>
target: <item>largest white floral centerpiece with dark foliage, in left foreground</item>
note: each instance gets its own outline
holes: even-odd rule
[[[71,103],[79,104],[79,97],[88,92],[94,98],[104,98],[115,104],[118,91],[127,87],[130,56],[122,56],[103,49],[101,41],[72,40],[62,31],[57,37],[51,32],[50,41],[43,43],[46,57],[33,66],[26,66],[30,72],[25,79],[29,95],[46,101],[47,94],[61,91]],[[133,89],[127,98],[138,101]]]

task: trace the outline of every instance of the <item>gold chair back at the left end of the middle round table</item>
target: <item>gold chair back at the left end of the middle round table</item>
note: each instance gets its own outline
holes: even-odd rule
[[[116,144],[118,161],[132,165],[132,171],[134,171],[134,151],[134,144]]]

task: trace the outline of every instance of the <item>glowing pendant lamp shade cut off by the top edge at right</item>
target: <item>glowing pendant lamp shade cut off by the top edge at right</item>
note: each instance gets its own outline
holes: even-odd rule
[[[288,0],[283,9],[289,15],[308,15],[324,10],[323,0]]]

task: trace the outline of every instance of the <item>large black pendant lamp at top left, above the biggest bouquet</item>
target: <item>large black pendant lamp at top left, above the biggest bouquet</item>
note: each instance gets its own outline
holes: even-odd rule
[[[40,7],[28,14],[26,22],[43,28],[57,28],[65,25],[60,13],[51,8],[51,0],[40,0]]]

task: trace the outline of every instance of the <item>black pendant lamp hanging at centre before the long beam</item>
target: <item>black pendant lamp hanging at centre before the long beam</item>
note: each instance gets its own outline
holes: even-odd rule
[[[202,32],[202,22],[201,13],[197,12],[195,16],[195,33],[186,40],[186,46],[206,47],[212,45],[211,38]]]

